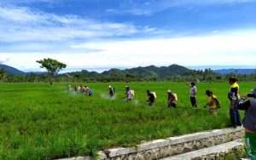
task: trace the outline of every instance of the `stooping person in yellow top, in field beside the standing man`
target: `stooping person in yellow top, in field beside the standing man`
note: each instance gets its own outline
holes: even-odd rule
[[[207,99],[207,105],[204,106],[205,108],[208,106],[209,107],[209,112],[211,114],[217,114],[217,108],[219,107],[219,101],[218,98],[212,94],[211,90],[207,90],[206,94],[208,96]]]

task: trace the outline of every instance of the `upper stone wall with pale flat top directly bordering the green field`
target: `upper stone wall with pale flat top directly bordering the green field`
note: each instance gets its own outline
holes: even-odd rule
[[[209,146],[223,144],[232,140],[241,139],[244,129],[214,129],[195,134],[185,134],[177,137],[148,141],[132,147],[118,147],[105,151],[98,151],[96,159],[159,159],[171,157],[189,151],[195,151]],[[90,157],[73,157],[65,160],[88,160]],[[64,160],[64,159],[62,159]]]

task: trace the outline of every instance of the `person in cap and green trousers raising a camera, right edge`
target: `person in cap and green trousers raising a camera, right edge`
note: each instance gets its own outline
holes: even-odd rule
[[[237,109],[245,111],[242,120],[245,129],[245,151],[251,159],[256,160],[256,87],[252,89],[252,93],[242,96]]]

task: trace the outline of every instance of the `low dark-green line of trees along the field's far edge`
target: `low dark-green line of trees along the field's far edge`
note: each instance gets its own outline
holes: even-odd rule
[[[220,75],[214,73],[212,69],[202,70],[189,70],[185,75],[177,76],[145,76],[145,77],[135,77],[130,74],[126,75],[114,75],[114,76],[99,76],[97,75],[87,75],[86,71],[76,71],[72,73],[65,73],[55,75],[55,82],[81,82],[81,83],[90,83],[90,82],[155,82],[155,81],[200,81],[200,82],[224,82],[229,77],[236,77],[239,81],[250,82],[256,81],[256,73],[243,75],[237,74],[237,72]],[[53,79],[51,79],[53,81]],[[38,83],[38,82],[47,82],[49,83],[49,74],[36,74],[29,73],[26,75],[15,75],[7,73],[3,68],[0,69],[0,82],[5,83]]]

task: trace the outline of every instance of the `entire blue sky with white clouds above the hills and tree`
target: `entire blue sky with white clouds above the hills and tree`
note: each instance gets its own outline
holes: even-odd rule
[[[0,63],[256,67],[256,0],[1,0]]]

